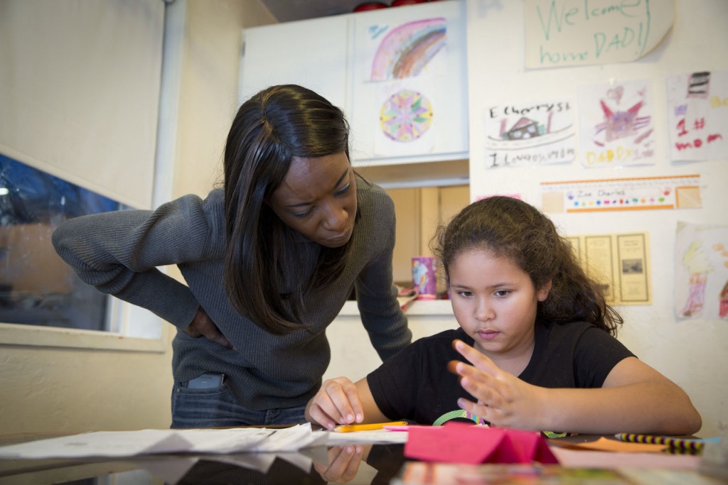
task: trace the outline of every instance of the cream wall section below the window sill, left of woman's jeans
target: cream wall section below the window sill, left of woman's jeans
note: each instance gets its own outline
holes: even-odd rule
[[[1,436],[166,428],[170,358],[0,345]]]

